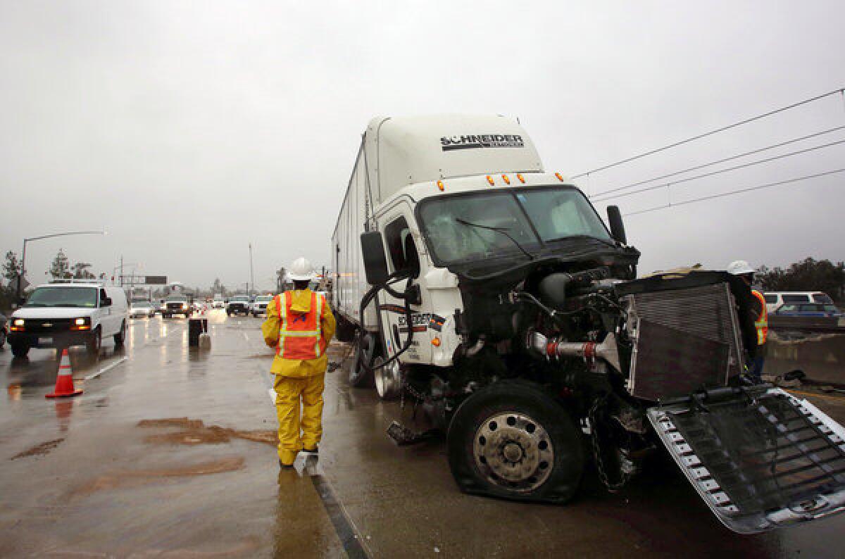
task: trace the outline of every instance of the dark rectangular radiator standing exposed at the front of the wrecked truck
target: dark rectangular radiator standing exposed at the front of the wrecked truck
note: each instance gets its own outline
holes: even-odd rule
[[[629,391],[657,401],[726,386],[743,369],[727,283],[624,296],[633,342]]]

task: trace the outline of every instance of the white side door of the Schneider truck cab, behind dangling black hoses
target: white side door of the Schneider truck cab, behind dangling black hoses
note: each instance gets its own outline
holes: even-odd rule
[[[410,271],[413,283],[419,285],[419,278],[426,272],[425,258],[420,258],[418,251],[419,236],[411,208],[401,203],[390,209],[379,223],[384,224],[382,236],[388,253],[390,272]],[[412,230],[411,224],[414,225]],[[406,279],[394,285],[395,290],[404,290]],[[393,356],[405,345],[409,328],[413,329],[411,347],[400,357],[406,363],[431,363],[432,346],[428,323],[431,321],[431,301],[427,290],[422,286],[421,305],[412,305],[412,324],[407,323],[405,301],[391,296],[387,291],[379,293],[379,312],[381,316],[384,350]]]

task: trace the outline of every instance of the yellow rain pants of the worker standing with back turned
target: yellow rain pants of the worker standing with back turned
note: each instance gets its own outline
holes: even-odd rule
[[[275,414],[279,418],[279,459],[282,464],[293,464],[300,450],[316,448],[323,437],[324,379],[324,374],[298,378],[275,376]]]

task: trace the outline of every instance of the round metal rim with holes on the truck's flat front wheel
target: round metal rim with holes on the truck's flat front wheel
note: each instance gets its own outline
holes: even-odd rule
[[[482,475],[508,491],[533,491],[552,473],[552,439],[529,415],[504,411],[489,416],[478,426],[472,450]]]

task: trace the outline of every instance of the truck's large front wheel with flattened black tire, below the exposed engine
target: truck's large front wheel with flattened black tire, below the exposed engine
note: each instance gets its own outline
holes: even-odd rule
[[[581,431],[534,383],[502,381],[473,393],[452,417],[447,446],[465,493],[561,504],[581,486]]]

